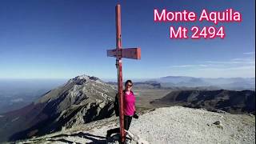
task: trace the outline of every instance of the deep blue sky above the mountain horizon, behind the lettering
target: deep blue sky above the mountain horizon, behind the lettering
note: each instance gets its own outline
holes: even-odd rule
[[[116,78],[114,6],[118,1],[0,2],[0,78]],[[254,77],[255,1],[122,1],[122,46],[142,48],[140,61],[123,59],[124,78]],[[170,26],[211,22],[154,22],[154,8],[233,8],[242,22],[225,26],[225,39],[170,39]]]

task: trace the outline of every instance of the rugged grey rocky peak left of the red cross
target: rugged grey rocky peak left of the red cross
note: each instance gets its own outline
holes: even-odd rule
[[[33,138],[78,126],[113,112],[116,90],[99,78],[87,75],[70,79],[36,102],[0,117],[0,142]]]

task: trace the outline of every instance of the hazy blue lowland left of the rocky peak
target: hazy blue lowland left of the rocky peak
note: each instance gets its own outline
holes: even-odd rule
[[[66,79],[0,79],[0,114],[29,105],[65,82]]]

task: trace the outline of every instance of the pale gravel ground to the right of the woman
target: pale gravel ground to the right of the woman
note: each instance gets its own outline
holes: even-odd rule
[[[130,131],[150,143],[255,143],[255,117],[173,106],[143,114]]]

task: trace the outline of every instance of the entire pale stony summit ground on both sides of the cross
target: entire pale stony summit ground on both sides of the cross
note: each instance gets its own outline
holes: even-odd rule
[[[88,129],[88,126],[94,128]],[[118,122],[116,118],[110,118],[90,123],[88,126],[87,129],[81,127],[63,130],[26,142],[106,143],[106,130],[117,127]],[[149,143],[157,144],[255,143],[255,116],[214,113],[182,106],[164,107],[133,119],[130,132]]]

